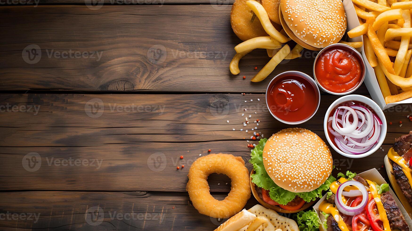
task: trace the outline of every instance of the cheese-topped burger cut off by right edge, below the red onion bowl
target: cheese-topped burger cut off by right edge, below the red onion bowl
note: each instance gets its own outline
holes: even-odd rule
[[[412,217],[412,132],[395,139],[385,157],[389,181],[403,207]]]

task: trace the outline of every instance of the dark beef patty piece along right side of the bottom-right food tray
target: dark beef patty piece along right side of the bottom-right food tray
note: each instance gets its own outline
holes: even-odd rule
[[[381,194],[382,204],[384,205],[386,216],[388,216],[391,229],[399,229],[400,231],[409,231],[409,226],[400,212],[398,205],[393,199],[391,193],[386,192]]]

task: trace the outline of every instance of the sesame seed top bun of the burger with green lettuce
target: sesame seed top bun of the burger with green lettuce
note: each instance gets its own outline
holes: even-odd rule
[[[332,154],[315,133],[303,128],[288,128],[267,140],[263,164],[269,177],[282,189],[310,192],[330,176]]]

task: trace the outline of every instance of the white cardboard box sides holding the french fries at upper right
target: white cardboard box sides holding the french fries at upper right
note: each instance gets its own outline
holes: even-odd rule
[[[359,26],[358,16],[356,15],[355,8],[353,7],[353,3],[351,0],[343,0],[343,5],[346,12],[346,19],[348,22],[347,31]],[[363,42],[362,36],[358,36],[355,38],[349,38],[350,42]],[[368,59],[366,59],[365,52],[363,50],[363,46],[361,48],[356,49],[358,52],[362,54],[363,60],[365,61],[366,66],[366,75],[365,75],[365,82],[366,87],[368,88],[369,94],[372,97],[373,101],[375,101],[382,110],[387,108],[396,106],[398,104],[411,104],[412,98],[405,99],[396,103],[386,104],[385,99],[382,95],[381,89],[378,84],[378,80],[376,79],[375,71],[373,70],[372,66],[370,66]]]

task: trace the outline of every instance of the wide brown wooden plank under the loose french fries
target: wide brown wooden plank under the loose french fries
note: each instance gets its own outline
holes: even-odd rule
[[[283,71],[312,75],[316,52],[304,51],[303,58],[283,61],[266,80],[250,82],[258,72],[253,67],[260,70],[269,61],[260,49],[246,55],[241,73],[233,76],[229,63],[241,40],[230,26],[230,9],[1,7],[0,90],[264,93],[271,77]],[[61,57],[62,52],[68,58]],[[80,55],[83,52],[87,55]],[[29,64],[29,56],[35,63]],[[248,78],[243,80],[243,75]],[[360,92],[368,94],[364,86]]]

